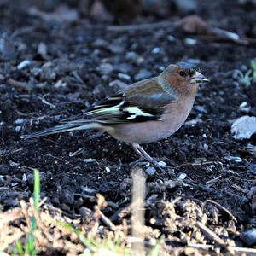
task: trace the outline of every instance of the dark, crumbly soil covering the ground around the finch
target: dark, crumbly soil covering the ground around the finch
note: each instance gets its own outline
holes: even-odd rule
[[[247,9],[236,1],[199,5],[197,14],[212,26],[255,38],[255,7]],[[189,119],[179,131],[143,145],[172,167],[153,175],[145,172],[145,222],[152,230],[148,237],[164,235],[169,249],[184,248],[189,242],[216,244],[207,236],[195,236],[196,232],[202,234],[195,226],[199,221],[233,246],[255,247],[255,237],[249,244],[243,234],[256,225],[256,177],[250,172],[250,165],[256,164],[256,137],[237,141],[230,133],[235,119],[256,115],[256,84],[245,88],[233,76],[235,69],[247,72],[256,57],[254,46],[206,40],[172,26],[113,32],[108,30],[109,24],[88,19],[56,23],[14,6],[0,12],[3,211],[29,200],[36,168],[41,175],[41,198],[47,197],[47,204],[78,218],[84,207],[94,211],[96,195],[101,194],[108,202],[102,212],[122,227],[130,218],[129,213],[119,214],[131,203],[129,163],[137,160],[129,145],[96,131],[26,141],[20,135],[81,113],[96,100],[140,79],[138,73],[154,76],[170,63],[192,61],[211,82],[201,86]],[[157,17],[141,20],[159,21]],[[177,20],[177,16],[168,20]],[[194,38],[195,44],[188,44],[185,38]],[[25,60],[27,66],[19,69]],[[250,108],[240,108],[242,102]],[[183,182],[170,183],[181,173],[186,174]],[[102,226],[108,233],[108,227]],[[65,253],[61,248],[56,251]]]

